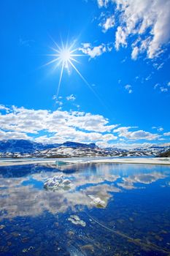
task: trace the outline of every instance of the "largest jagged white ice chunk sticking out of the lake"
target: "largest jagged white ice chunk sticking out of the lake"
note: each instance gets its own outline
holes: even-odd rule
[[[71,185],[71,181],[67,178],[63,178],[63,175],[61,176],[54,176],[53,178],[48,178],[47,181],[45,181],[44,187],[45,189],[69,189]]]

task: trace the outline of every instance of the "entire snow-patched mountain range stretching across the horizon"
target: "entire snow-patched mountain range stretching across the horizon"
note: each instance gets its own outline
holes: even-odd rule
[[[29,140],[1,140],[0,157],[144,157],[158,156],[170,146],[148,146],[131,150],[99,148],[95,143],[66,141],[62,144],[42,144]]]

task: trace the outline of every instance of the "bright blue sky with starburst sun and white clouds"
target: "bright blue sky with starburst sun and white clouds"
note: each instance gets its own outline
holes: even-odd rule
[[[0,5],[0,140],[168,145],[169,0]]]

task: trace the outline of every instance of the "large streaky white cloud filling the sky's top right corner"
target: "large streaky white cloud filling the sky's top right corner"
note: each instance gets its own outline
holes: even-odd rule
[[[163,52],[170,39],[169,0],[98,0],[98,7],[107,7],[108,2],[116,5],[119,26],[115,34],[115,48],[127,46],[128,39],[137,38],[132,45],[132,59],[139,53],[147,53],[150,59]],[[107,10],[105,12],[107,17]]]

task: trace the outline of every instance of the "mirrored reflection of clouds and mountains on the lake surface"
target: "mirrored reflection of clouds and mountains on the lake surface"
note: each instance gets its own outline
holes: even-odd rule
[[[47,191],[43,188],[47,178],[69,178],[72,188]],[[20,165],[0,168],[0,218],[36,217],[44,211],[65,213],[69,208],[96,207],[89,197],[98,197],[107,206],[115,193],[125,189],[139,189],[155,181],[168,184],[169,168],[142,165],[86,164]],[[141,186],[139,186],[139,184]]]

